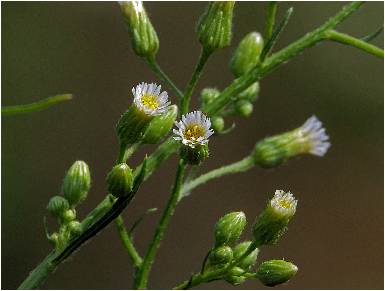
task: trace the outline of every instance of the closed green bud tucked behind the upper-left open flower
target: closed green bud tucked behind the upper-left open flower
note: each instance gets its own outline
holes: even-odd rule
[[[146,134],[142,140],[142,143],[155,144],[161,141],[174,125],[174,121],[178,114],[178,106],[168,106],[166,113],[155,116],[151,121]]]

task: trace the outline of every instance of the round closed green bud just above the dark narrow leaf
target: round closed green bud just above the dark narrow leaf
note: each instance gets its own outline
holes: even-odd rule
[[[115,197],[123,197],[132,191],[134,178],[126,163],[116,165],[107,176],[107,191]]]

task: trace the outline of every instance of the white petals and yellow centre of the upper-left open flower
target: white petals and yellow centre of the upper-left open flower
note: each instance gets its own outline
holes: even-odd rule
[[[150,85],[142,82],[132,87],[132,94],[134,94],[134,104],[148,116],[157,116],[167,111],[167,106],[171,102],[167,102],[167,91],[161,92],[161,85],[151,83]],[[160,94],[159,94],[160,93]]]

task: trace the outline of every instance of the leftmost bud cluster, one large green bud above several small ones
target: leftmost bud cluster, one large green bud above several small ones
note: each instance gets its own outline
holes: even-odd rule
[[[88,165],[84,161],[75,161],[65,175],[61,196],[53,197],[47,205],[50,214],[57,218],[60,224],[59,233],[49,235],[47,232],[47,237],[58,252],[83,230],[80,222],[75,220],[75,206],[87,196],[90,183]]]

